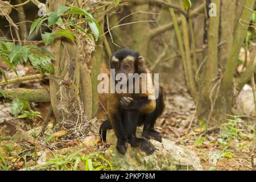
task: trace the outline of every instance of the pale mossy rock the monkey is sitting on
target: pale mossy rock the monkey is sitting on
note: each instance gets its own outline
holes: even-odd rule
[[[177,146],[167,139],[163,139],[162,143],[150,140],[156,147],[152,155],[146,155],[145,152],[131,147],[130,144],[125,155],[119,154],[115,148],[117,139],[113,130],[108,131],[106,140],[111,146],[106,150],[105,156],[114,167],[121,170],[203,170],[195,152],[183,146]]]

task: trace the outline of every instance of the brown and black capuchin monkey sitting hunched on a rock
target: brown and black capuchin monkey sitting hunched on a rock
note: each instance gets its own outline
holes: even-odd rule
[[[133,81],[131,73],[141,74],[145,73],[147,88],[154,88],[154,77],[149,69],[144,64],[144,59],[138,52],[130,49],[121,49],[115,52],[110,59],[110,66],[114,69],[115,78],[119,73],[127,77],[127,89],[129,89],[129,81]],[[150,74],[148,74],[150,73]],[[114,80],[115,85],[122,79]],[[102,139],[106,140],[106,131],[114,129],[117,136],[117,150],[121,154],[125,154],[127,150],[127,143],[132,147],[139,147],[146,154],[152,154],[155,147],[148,141],[148,139],[155,139],[162,142],[162,134],[155,131],[154,125],[156,119],[163,113],[164,100],[162,88],[154,88],[153,92],[142,93],[142,81],[134,82],[139,85],[139,93],[109,93],[107,97],[107,109],[109,119],[104,121],[100,127],[100,135]],[[148,85],[150,84],[150,85]],[[157,92],[156,92],[157,91]],[[158,95],[156,95],[158,93]],[[144,138],[136,137],[137,126],[143,125],[142,136]]]

